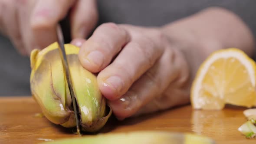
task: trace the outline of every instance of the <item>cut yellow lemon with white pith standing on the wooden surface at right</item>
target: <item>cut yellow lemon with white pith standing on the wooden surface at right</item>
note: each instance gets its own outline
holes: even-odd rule
[[[200,66],[191,87],[195,109],[220,110],[225,104],[256,104],[256,63],[243,51],[230,48],[213,52]]]

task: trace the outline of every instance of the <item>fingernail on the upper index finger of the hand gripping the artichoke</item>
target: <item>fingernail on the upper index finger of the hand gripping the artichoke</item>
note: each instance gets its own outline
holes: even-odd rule
[[[101,66],[104,62],[104,56],[102,52],[98,50],[90,52],[89,55],[86,56],[86,59],[98,66]]]

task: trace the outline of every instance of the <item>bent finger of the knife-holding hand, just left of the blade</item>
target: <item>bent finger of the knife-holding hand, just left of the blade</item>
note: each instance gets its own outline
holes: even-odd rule
[[[56,24],[68,13],[75,0],[38,0],[30,23],[40,49],[56,41]]]

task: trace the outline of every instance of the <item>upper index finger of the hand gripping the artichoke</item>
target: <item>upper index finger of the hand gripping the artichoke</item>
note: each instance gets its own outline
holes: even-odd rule
[[[125,29],[114,23],[99,26],[82,45],[79,60],[85,69],[99,72],[104,69],[130,40]]]

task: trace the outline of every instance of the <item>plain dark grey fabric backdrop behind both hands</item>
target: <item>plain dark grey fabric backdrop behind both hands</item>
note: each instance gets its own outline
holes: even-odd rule
[[[238,14],[256,36],[256,0],[98,0],[100,23],[161,26],[210,6]],[[30,60],[0,36],[0,96],[30,95]]]

